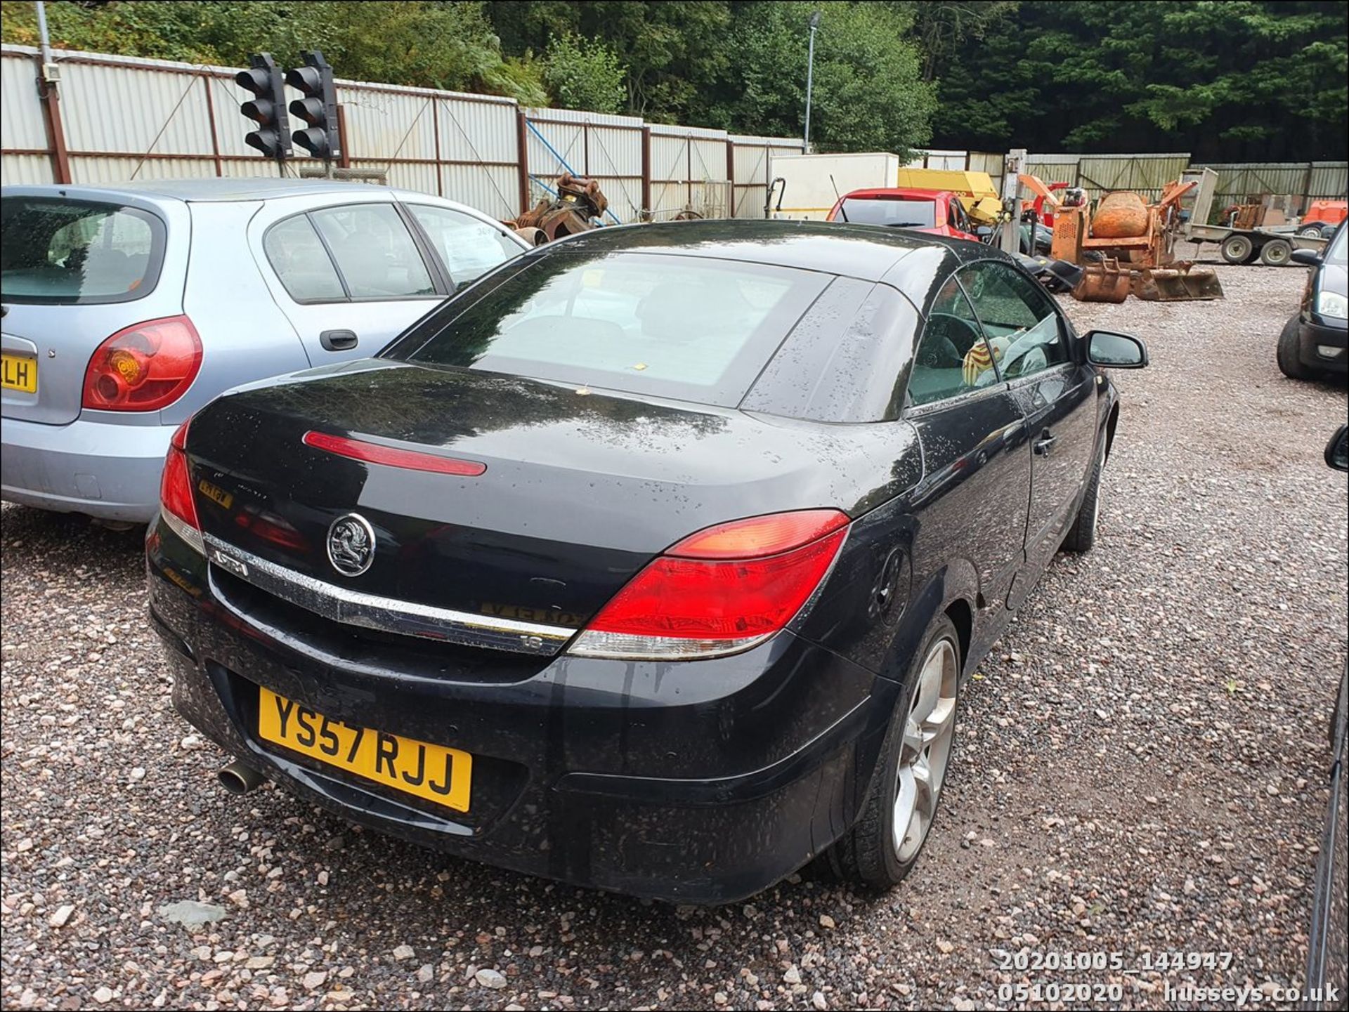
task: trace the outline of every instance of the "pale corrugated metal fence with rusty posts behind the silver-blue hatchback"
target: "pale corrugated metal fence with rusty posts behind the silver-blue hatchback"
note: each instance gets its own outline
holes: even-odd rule
[[[61,51],[54,115],[39,55],[0,47],[0,181],[98,183],[278,171],[244,144],[248,93],[231,67]],[[599,181],[615,221],[762,216],[769,154],[791,137],[747,137],[631,116],[525,109],[510,98],[337,82],[343,167],[511,218],[564,170]],[[293,125],[302,125],[294,121]],[[59,143],[58,143],[59,141]],[[297,150],[297,155],[301,154]],[[316,162],[295,158],[297,172]]]

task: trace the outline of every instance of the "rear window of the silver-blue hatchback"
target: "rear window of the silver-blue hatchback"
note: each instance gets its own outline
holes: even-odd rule
[[[5,302],[131,302],[163,263],[163,221],[139,208],[49,197],[0,201],[0,292]]]

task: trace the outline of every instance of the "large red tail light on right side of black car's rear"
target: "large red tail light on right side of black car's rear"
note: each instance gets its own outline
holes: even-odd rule
[[[707,527],[653,559],[600,609],[571,654],[626,660],[724,656],[785,628],[847,536],[838,509]]]

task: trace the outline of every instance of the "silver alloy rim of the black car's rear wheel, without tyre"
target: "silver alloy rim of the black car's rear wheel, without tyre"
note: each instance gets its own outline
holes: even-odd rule
[[[917,854],[936,815],[955,737],[959,674],[955,644],[938,640],[923,659],[909,699],[892,822],[894,854],[904,862]]]

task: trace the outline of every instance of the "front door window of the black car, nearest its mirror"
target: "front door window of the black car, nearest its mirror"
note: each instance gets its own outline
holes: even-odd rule
[[[960,271],[960,280],[1005,379],[1033,376],[1068,361],[1059,314],[1039,284],[1000,263],[971,264]]]

